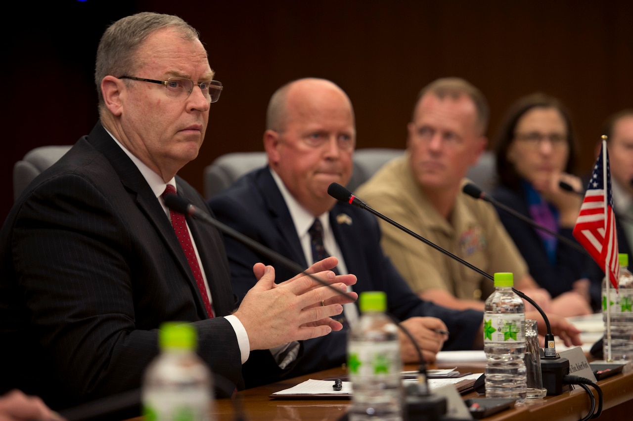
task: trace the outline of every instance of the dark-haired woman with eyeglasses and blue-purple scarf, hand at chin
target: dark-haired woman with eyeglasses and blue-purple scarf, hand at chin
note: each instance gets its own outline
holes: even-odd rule
[[[563,190],[560,181],[582,192],[572,175],[577,144],[570,116],[553,97],[532,94],[510,107],[496,140],[498,186],[492,196],[561,236],[575,241],[572,229],[582,197]],[[532,278],[549,291],[556,314],[591,313],[591,283],[586,278],[589,257],[499,210]],[[596,289],[599,300],[599,286]]]

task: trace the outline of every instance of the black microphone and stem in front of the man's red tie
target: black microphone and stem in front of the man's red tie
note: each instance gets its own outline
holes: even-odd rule
[[[257,241],[254,241],[253,239],[240,233],[239,231],[235,231],[235,229],[230,228],[230,226],[221,223],[217,219],[211,217],[208,213],[203,212],[200,209],[197,209],[197,207],[189,203],[187,199],[179,197],[178,195],[175,195],[173,193],[166,194],[165,196],[163,196],[163,199],[165,200],[166,207],[168,207],[169,209],[172,209],[174,212],[179,212],[180,214],[189,215],[197,219],[201,219],[205,223],[211,224],[212,226],[219,229],[223,233],[229,236],[232,236],[233,238],[235,238],[235,240],[241,242],[242,244],[248,246],[249,248],[252,248],[256,252],[261,253],[265,257],[268,257],[268,259],[275,260],[275,262],[279,262],[280,264],[284,265],[285,267],[287,267],[293,272],[301,273],[306,276],[309,276],[314,281],[322,284],[323,286],[327,286],[331,290],[336,291],[338,294],[345,296],[352,302],[356,301],[356,299],[353,298],[353,296],[349,295],[348,293],[344,293],[340,290],[337,290],[337,288],[334,288],[334,286],[322,281],[319,278],[316,278],[316,276],[314,276],[313,274],[306,272],[306,269],[301,267],[301,265],[293,262],[292,260],[288,259],[287,257],[283,255],[280,255],[279,253],[275,252],[275,250],[272,250],[268,247],[261,245]]]

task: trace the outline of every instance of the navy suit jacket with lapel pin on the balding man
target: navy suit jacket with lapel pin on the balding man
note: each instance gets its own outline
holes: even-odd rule
[[[294,262],[307,266],[303,248],[292,223],[284,198],[268,168],[258,169],[238,180],[224,192],[211,198],[210,207],[216,217],[241,233],[272,248]],[[337,215],[347,214],[351,224],[337,223]],[[336,204],[330,211],[330,224],[341,248],[349,273],[358,278],[354,291],[385,291],[387,309],[399,320],[413,316],[435,316],[444,320],[451,333],[444,349],[470,349],[482,322],[482,313],[459,312],[423,302],[413,293],[385,257],[380,248],[380,229],[375,217],[346,204]],[[225,238],[233,288],[241,299],[254,284],[253,264],[274,265],[276,281],[294,276],[278,262],[266,259],[232,238]],[[426,247],[420,245],[420,247]],[[284,377],[306,374],[341,365],[346,361],[347,329],[322,338],[304,341],[304,356]],[[246,363],[248,365],[249,362]],[[246,386],[271,382],[275,372],[252,377],[244,370]],[[279,373],[277,373],[279,374]]]

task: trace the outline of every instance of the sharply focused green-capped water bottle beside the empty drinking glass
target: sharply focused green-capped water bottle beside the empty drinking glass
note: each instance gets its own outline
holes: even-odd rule
[[[515,398],[523,403],[525,377],[525,305],[512,291],[511,273],[494,274],[496,290],[486,300],[484,351],[486,398]]]

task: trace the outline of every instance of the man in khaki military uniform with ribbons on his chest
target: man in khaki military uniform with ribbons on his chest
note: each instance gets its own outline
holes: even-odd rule
[[[490,274],[513,272],[515,288],[544,310],[549,294],[529,276],[525,261],[495,210],[461,191],[465,175],[486,148],[489,109],[479,89],[441,78],[418,95],[407,150],[357,190],[361,200]],[[380,221],[382,247],[423,300],[483,310],[492,281]]]

